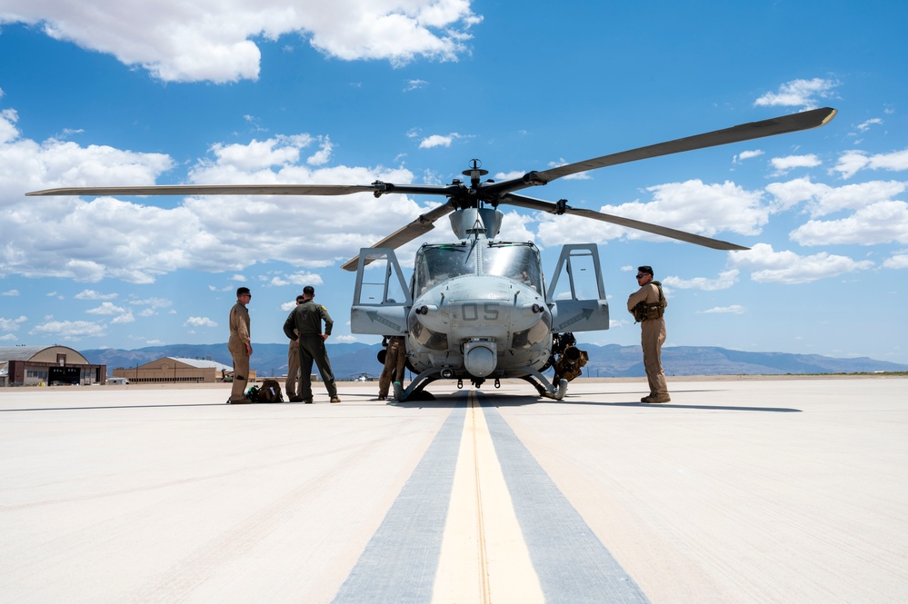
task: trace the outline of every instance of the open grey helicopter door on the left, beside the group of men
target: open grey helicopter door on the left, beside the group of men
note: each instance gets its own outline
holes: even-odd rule
[[[370,264],[366,268],[366,264]],[[354,303],[350,308],[350,331],[373,335],[404,335],[406,312],[413,306],[394,250],[363,248],[356,265]]]

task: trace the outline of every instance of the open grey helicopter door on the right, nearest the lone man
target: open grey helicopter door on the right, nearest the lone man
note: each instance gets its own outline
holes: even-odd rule
[[[599,248],[595,243],[576,243],[562,248],[545,302],[552,309],[553,332],[608,329],[608,302]]]

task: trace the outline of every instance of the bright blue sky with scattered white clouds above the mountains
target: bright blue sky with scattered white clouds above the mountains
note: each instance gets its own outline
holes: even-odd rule
[[[340,264],[436,202],[28,191],[450,183],[472,158],[502,178],[832,106],[820,129],[531,192],[749,252],[506,207],[503,236],[548,272],[600,244],[613,324],[581,342],[639,342],[645,263],[666,345],[908,362],[906,24],[903,2],[0,0],[0,345],[225,342],[239,285],[254,342],[284,342],[306,284],[329,342],[372,343]]]

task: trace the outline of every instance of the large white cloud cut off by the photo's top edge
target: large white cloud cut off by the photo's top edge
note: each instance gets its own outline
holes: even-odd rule
[[[6,0],[0,24],[113,54],[165,82],[257,79],[259,45],[296,35],[347,61],[453,61],[482,21],[469,0]]]

